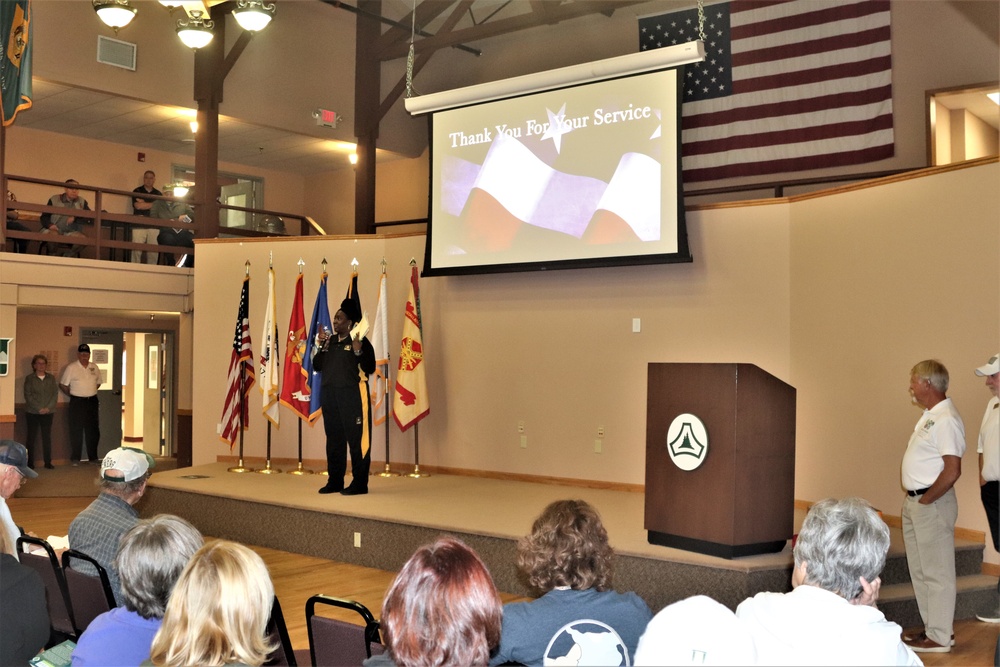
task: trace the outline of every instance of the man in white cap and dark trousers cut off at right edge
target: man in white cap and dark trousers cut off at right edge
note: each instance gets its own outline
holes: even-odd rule
[[[976,375],[986,378],[986,388],[993,398],[986,404],[982,426],[979,427],[979,495],[990,524],[993,548],[1000,551],[1000,354],[994,354],[976,369]],[[1000,587],[997,588],[1000,596]],[[986,623],[1000,623],[1000,604],[976,618]]]

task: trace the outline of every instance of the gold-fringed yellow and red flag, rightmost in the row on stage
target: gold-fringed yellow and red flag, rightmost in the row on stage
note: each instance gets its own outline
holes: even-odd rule
[[[396,371],[396,394],[392,413],[401,431],[423,419],[431,411],[427,398],[427,376],[424,373],[424,346],[420,322],[420,285],[417,267],[410,273],[410,295],[406,300],[403,320],[403,342],[399,350]]]

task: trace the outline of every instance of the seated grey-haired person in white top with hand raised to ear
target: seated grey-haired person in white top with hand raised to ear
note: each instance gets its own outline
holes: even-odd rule
[[[861,498],[813,505],[795,543],[790,593],[736,608],[765,665],[919,665],[876,606],[889,527]]]

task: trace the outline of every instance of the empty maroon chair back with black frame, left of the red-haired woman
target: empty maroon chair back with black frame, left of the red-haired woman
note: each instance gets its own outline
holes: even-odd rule
[[[316,605],[347,609],[361,616],[364,625],[316,615]],[[385,652],[379,622],[360,602],[314,595],[306,601],[309,656],[314,665],[360,665],[372,655]]]

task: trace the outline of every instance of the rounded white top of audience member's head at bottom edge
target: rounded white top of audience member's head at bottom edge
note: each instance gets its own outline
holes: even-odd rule
[[[728,607],[696,595],[660,610],[635,650],[635,665],[753,665],[753,639]]]

